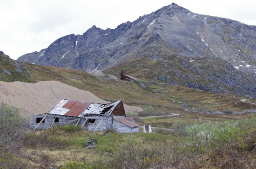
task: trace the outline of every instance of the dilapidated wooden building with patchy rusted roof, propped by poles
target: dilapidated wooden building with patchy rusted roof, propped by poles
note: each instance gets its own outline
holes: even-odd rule
[[[80,125],[88,131],[139,131],[134,118],[126,117],[122,100],[100,104],[63,99],[48,113],[34,115],[30,121],[30,127],[34,130],[67,124]]]

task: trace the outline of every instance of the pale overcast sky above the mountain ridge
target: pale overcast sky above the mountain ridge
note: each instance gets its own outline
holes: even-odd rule
[[[115,29],[172,2],[191,12],[256,25],[256,0],[0,0],[0,50],[17,59],[93,25]]]

